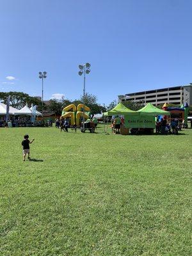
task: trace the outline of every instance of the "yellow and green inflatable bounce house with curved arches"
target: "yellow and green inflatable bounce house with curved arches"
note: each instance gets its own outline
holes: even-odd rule
[[[74,104],[70,104],[67,107],[63,108],[60,118],[70,118],[70,125],[81,125],[81,116],[83,116],[83,107],[84,107],[84,119],[90,118],[90,108],[79,104],[77,107]]]

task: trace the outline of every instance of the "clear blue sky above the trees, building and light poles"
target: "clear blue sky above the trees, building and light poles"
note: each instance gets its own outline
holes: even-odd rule
[[[192,83],[191,0],[1,0],[0,91],[45,99],[117,95]],[[6,78],[7,77],[7,78]]]

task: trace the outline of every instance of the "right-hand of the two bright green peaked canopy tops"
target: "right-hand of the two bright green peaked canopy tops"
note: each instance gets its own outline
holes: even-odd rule
[[[141,108],[136,112],[140,113],[140,115],[149,115],[149,116],[170,115],[170,112],[164,111],[163,109],[159,109],[156,106],[152,105],[151,103],[148,103],[145,107]]]

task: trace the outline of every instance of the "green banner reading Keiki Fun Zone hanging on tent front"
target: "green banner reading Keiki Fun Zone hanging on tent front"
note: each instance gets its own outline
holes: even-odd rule
[[[126,128],[156,128],[155,116],[125,116]]]

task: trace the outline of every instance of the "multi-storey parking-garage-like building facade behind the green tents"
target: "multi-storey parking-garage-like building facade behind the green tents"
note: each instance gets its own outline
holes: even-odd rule
[[[168,87],[163,89],[149,90],[143,92],[127,93],[118,96],[119,101],[132,100],[134,102],[148,102],[153,105],[172,103],[181,105],[188,103],[192,105],[192,83],[184,86]]]

